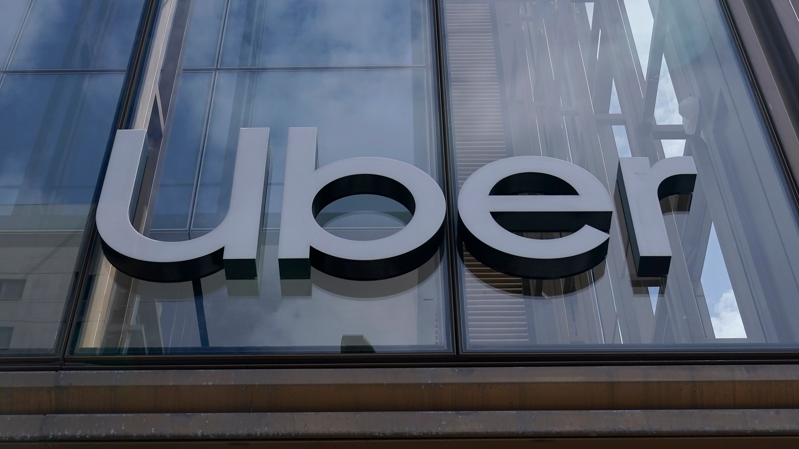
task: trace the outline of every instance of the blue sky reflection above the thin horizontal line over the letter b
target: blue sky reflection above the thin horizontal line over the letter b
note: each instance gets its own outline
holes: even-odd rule
[[[230,3],[221,66],[410,64],[407,0]]]

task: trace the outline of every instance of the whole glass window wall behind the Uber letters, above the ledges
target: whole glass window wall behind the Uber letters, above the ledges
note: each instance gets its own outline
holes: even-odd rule
[[[0,356],[795,351],[794,181],[724,5],[0,0]],[[155,283],[106,260],[93,213],[116,129],[147,132],[134,228],[182,241],[225,218],[252,127],[270,129],[271,151],[257,283]],[[318,130],[317,167],[386,157],[432,177],[450,203],[435,256],[386,280],[280,280],[292,127]],[[460,186],[531,155],[586,169],[613,197],[595,268],[523,279],[464,248]],[[660,203],[670,272],[636,276],[619,157],[678,156],[698,175]],[[376,240],[411,216],[363,194],[316,221]]]

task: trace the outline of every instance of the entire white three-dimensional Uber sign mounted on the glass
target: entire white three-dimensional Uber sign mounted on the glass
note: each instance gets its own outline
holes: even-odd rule
[[[143,280],[178,282],[225,269],[228,279],[256,279],[258,237],[268,173],[268,128],[240,130],[230,207],[213,231],[193,240],[152,240],[130,221],[145,159],[146,131],[117,131],[97,206],[108,260]],[[384,157],[355,157],[316,168],[316,128],[288,129],[278,262],[281,279],[308,279],[311,267],[351,280],[380,280],[419,268],[443,238],[447,203],[422,170]],[[618,187],[638,276],[666,276],[671,258],[659,200],[692,193],[692,157],[650,166],[622,157]],[[413,215],[400,232],[377,240],[333,236],[316,222],[343,197],[392,198]],[[551,157],[519,156],[472,173],[458,195],[459,235],[483,264],[512,276],[556,279],[593,268],[607,255],[613,201],[585,169]],[[571,232],[539,240],[514,232]]]

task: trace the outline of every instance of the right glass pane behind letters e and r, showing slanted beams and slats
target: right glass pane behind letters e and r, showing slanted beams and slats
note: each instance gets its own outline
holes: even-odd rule
[[[463,250],[472,352],[795,347],[799,228],[776,150],[715,0],[446,0],[455,183],[504,157],[579,165],[614,197],[606,261],[559,280]],[[692,196],[661,202],[666,277],[638,277],[619,157],[692,156]],[[527,233],[552,239],[566,233]]]

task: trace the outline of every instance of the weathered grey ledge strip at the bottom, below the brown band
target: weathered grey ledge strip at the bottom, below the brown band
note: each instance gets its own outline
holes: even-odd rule
[[[12,415],[0,441],[799,435],[799,410]]]

